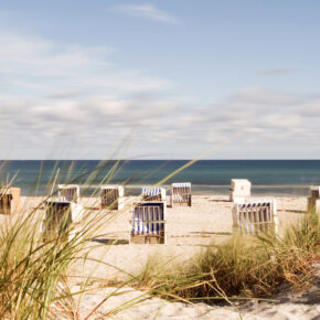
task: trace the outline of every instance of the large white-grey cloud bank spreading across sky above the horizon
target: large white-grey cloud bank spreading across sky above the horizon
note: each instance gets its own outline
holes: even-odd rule
[[[278,150],[274,158],[286,158],[292,146],[298,146],[297,158],[308,146],[320,154],[319,92],[245,87],[203,106],[174,95],[167,78],[118,66],[115,49],[58,45],[3,31],[0,45],[4,156],[13,150],[12,158],[44,158],[54,142],[76,141],[71,158],[88,150],[88,158],[103,158],[129,135],[136,156],[194,158],[238,132],[230,153],[217,157],[238,158],[252,148],[262,152],[254,158],[264,158],[262,146]]]

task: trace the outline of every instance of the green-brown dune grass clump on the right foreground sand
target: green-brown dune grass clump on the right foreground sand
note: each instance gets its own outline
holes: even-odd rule
[[[210,303],[268,298],[284,284],[306,288],[312,281],[312,263],[319,259],[319,235],[317,214],[307,214],[282,237],[236,234],[174,269],[150,260],[135,287],[169,300]]]

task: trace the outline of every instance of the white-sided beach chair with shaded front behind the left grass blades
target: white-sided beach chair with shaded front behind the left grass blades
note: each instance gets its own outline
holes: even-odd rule
[[[52,239],[58,235],[72,239],[77,233],[77,225],[83,220],[83,206],[63,200],[45,202],[45,220],[42,231],[44,239]]]

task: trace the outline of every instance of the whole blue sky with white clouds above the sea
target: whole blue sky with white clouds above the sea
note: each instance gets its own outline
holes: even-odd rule
[[[0,0],[0,159],[320,159],[320,1]]]

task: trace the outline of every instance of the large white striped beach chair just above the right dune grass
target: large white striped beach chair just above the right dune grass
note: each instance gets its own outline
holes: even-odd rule
[[[245,234],[278,233],[277,202],[275,199],[250,199],[233,207],[233,226]]]

